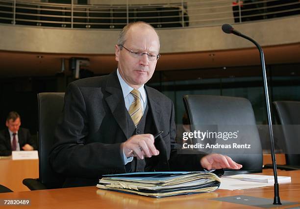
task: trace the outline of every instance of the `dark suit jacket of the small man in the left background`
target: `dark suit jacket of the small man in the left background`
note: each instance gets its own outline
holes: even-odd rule
[[[20,150],[25,144],[29,144],[34,150],[37,149],[36,142],[32,139],[28,129],[21,128],[18,131]],[[0,131],[0,156],[11,155],[10,135],[8,129]]]

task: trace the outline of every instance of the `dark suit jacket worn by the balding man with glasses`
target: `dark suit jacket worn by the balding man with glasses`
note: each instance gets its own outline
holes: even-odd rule
[[[153,88],[145,85],[145,89],[154,128],[156,132],[164,131],[155,139],[155,147],[160,151],[155,170],[200,170],[201,156],[176,155],[172,101]],[[116,71],[68,85],[50,152],[50,164],[55,172],[67,177],[67,186],[86,185],[80,178],[94,179],[91,184],[95,185],[101,175],[126,172],[120,154],[121,143],[131,136],[127,132],[126,111]],[[76,181],[82,183],[75,184]]]

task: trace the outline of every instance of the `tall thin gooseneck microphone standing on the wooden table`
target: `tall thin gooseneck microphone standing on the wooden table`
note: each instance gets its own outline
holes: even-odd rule
[[[273,126],[272,126],[272,118],[271,118],[269,90],[268,90],[268,82],[267,82],[264,52],[263,52],[261,46],[256,41],[254,41],[249,36],[246,36],[246,35],[242,34],[241,32],[235,30],[231,25],[224,24],[222,26],[222,30],[225,33],[233,33],[234,35],[241,36],[241,37],[246,38],[247,40],[251,41],[253,44],[255,44],[255,46],[257,47],[257,49],[260,53],[260,61],[261,61],[261,67],[262,67],[262,71],[263,71],[264,90],[265,90],[265,98],[266,98],[266,105],[267,105],[269,133],[270,133],[270,138],[271,138],[270,141],[271,141],[271,155],[272,155],[272,163],[273,163],[273,173],[274,173],[274,181],[275,181],[275,183],[274,183],[274,202],[273,202],[273,205],[282,205],[280,203],[280,197],[279,197],[279,184],[278,184],[278,180],[277,180],[277,166],[276,166],[276,158],[275,158]]]

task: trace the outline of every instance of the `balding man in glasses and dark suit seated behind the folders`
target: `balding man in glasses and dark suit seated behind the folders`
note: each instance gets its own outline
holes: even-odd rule
[[[152,26],[129,24],[115,45],[117,71],[69,84],[50,153],[53,170],[66,177],[64,186],[96,185],[104,174],[242,167],[217,154],[176,154],[174,105],[144,85],[159,48]]]

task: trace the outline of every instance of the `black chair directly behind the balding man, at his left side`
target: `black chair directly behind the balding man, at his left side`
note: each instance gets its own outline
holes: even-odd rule
[[[30,190],[61,188],[64,178],[55,173],[48,155],[53,144],[54,130],[62,112],[65,93],[38,94],[39,179],[25,179]]]

